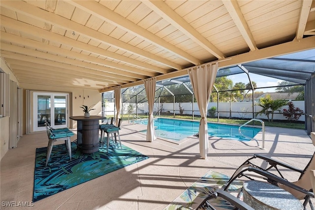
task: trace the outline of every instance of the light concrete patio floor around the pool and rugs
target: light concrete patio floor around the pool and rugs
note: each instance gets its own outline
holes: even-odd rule
[[[146,141],[138,132],[146,125],[123,122],[122,144],[150,158],[63,192],[40,200],[32,210],[163,210],[193,182],[209,170],[231,176],[235,168],[255,153],[266,154],[303,169],[315,147],[305,130],[265,127],[265,150],[255,141],[209,138],[206,159],[199,155],[197,137],[180,144],[162,139]],[[261,143],[261,132],[256,135]],[[71,137],[71,141],[76,136]],[[32,201],[35,149],[47,147],[46,132],[25,134],[18,147],[9,150],[0,162],[0,195],[2,201]],[[289,181],[295,173],[284,172]],[[1,207],[1,209],[21,209]]]

